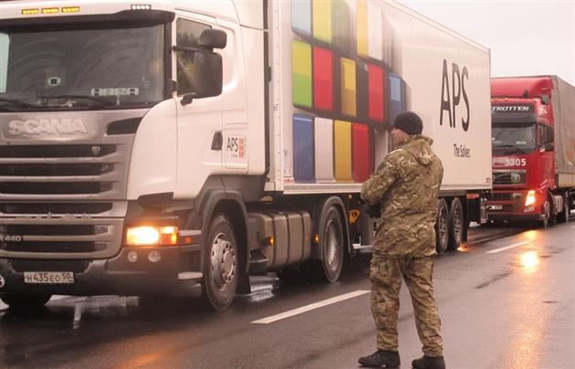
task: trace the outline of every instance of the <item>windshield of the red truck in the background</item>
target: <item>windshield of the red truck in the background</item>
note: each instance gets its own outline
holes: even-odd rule
[[[491,130],[494,153],[531,153],[537,147],[535,122],[529,124],[496,124]]]

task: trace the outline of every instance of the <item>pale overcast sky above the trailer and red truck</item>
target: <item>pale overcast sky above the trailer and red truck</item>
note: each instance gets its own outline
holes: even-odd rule
[[[399,0],[491,49],[491,75],[557,75],[575,86],[575,0]]]

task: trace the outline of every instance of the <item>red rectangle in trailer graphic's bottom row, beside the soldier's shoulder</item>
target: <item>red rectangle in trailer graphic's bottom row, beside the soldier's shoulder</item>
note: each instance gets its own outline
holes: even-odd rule
[[[351,124],[353,182],[364,182],[373,172],[370,128],[366,124]]]

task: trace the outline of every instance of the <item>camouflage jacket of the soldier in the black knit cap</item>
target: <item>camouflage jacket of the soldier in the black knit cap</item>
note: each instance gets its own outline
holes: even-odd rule
[[[384,255],[435,255],[437,196],[444,176],[434,141],[411,135],[388,153],[363,184],[361,197],[381,206],[373,252]]]

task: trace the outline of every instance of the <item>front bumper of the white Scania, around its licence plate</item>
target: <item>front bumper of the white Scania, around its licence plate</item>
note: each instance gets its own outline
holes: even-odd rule
[[[189,270],[201,269],[197,260],[199,245],[122,248],[114,258],[96,260],[0,258],[0,294],[195,296],[201,293],[202,270]],[[74,283],[26,283],[24,272],[34,271],[71,271]]]

